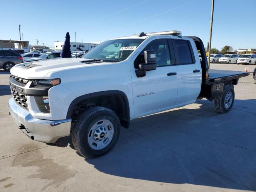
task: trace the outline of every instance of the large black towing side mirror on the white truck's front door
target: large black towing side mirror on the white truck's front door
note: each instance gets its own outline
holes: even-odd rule
[[[144,71],[151,71],[156,69],[156,52],[144,51],[145,63],[139,64],[139,69]]]

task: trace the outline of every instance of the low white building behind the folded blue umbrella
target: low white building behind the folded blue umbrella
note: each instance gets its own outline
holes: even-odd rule
[[[89,51],[92,48],[99,45],[101,42],[91,42],[91,43],[79,43],[79,42],[70,42],[70,50],[71,51]],[[54,42],[54,50],[61,50],[64,42],[55,41]]]

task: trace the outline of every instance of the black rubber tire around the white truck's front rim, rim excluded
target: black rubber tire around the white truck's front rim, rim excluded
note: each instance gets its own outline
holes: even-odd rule
[[[113,124],[114,135],[110,143],[105,148],[95,150],[90,146],[88,136],[91,127],[97,121],[102,120],[102,118],[110,121]],[[74,126],[72,131],[72,143],[77,152],[82,156],[86,158],[95,158],[106,154],[115,146],[120,135],[120,127],[120,120],[112,110],[104,107],[89,108],[80,115]],[[92,132],[90,134],[92,134]]]

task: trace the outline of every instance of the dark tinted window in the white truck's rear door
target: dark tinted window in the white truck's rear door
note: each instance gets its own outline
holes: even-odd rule
[[[192,52],[190,50],[190,42],[187,40],[172,40],[176,64],[192,64]]]

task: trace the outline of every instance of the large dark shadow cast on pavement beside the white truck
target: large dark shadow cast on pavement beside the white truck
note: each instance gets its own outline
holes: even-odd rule
[[[256,190],[256,100],[227,114],[206,100],[139,118],[108,154],[85,159],[105,174],[166,184]],[[66,138],[66,146],[72,142]],[[65,146],[65,145],[64,145]]]

